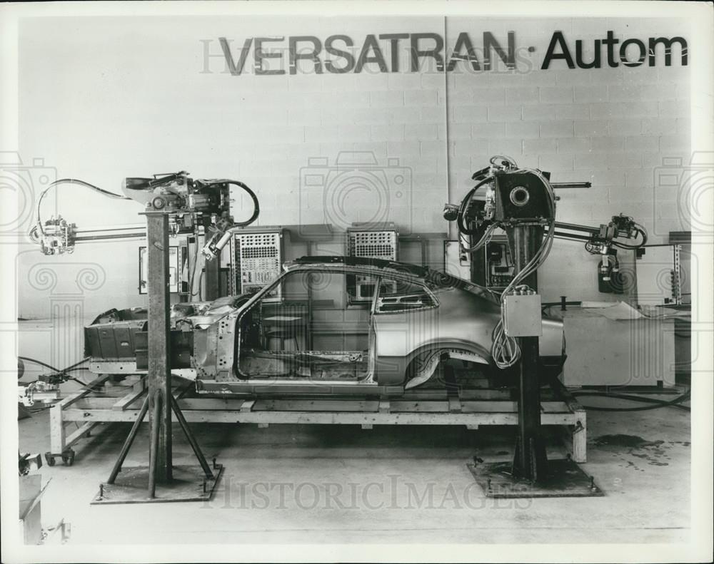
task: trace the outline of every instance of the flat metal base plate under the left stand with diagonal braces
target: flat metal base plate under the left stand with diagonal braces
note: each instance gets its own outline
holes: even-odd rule
[[[103,483],[91,505],[111,503],[167,503],[171,501],[210,501],[213,490],[223,474],[223,465],[213,466],[213,476],[207,478],[198,464],[173,468],[170,482],[156,483],[156,496],[149,497],[149,467],[122,468],[114,483]]]

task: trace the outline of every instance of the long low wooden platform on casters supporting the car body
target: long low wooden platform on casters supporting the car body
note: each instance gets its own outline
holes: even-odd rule
[[[112,383],[103,375],[86,389],[55,404],[50,411],[51,453],[61,456],[97,424],[136,419],[146,394],[145,376],[127,376]],[[508,389],[468,389],[449,395],[444,389],[408,391],[398,399],[306,398],[241,399],[196,394],[193,382],[177,379],[174,396],[188,423],[360,425],[517,425],[518,407]],[[586,460],[585,409],[556,381],[543,389],[540,421],[561,426],[575,462]],[[175,419],[174,419],[175,420]],[[67,434],[66,424],[81,424]],[[71,460],[74,460],[72,453]]]

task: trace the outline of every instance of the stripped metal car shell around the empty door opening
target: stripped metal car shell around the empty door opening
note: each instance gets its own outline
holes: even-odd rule
[[[376,307],[376,297],[373,298],[369,306],[369,369],[362,378],[353,381],[311,381],[256,379],[241,374],[238,357],[243,338],[241,332],[246,331],[241,323],[243,317],[266,297],[271,288],[294,272],[386,277],[415,284],[428,292],[432,300],[427,307],[381,311]],[[491,335],[500,319],[500,302],[488,289],[443,272],[383,260],[303,257],[283,265],[281,276],[256,294],[222,297],[213,302],[176,304],[171,312],[171,329],[172,333],[191,333],[190,364],[196,371],[198,391],[251,395],[315,393],[393,396],[409,387],[410,378],[416,376],[419,381],[426,381],[431,376],[415,373],[412,363],[417,358],[431,359],[427,370],[432,370],[438,359],[445,357],[461,358],[493,368]],[[100,316],[98,321],[93,326],[107,328],[106,317]],[[542,327],[540,356],[550,359],[563,357],[561,322],[543,319]],[[101,360],[96,357],[96,351],[89,352],[93,361]],[[423,363],[421,366],[423,369]]]

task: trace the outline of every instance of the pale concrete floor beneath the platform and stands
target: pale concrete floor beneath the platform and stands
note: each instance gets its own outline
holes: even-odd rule
[[[143,427],[125,466],[147,463]],[[48,429],[48,411],[19,421],[21,451],[49,450]],[[485,498],[466,463],[474,453],[485,461],[511,458],[514,428],[193,429],[204,453],[226,467],[213,501],[90,506],[129,431],[129,424],[107,424],[74,446],[74,466],[41,468],[43,480],[52,478],[44,525],[64,518],[76,545],[689,540],[690,417],[678,409],[588,413],[588,463],[581,466],[605,491],[601,498]],[[174,463],[193,463],[174,431]],[[603,444],[612,435],[619,437]]]

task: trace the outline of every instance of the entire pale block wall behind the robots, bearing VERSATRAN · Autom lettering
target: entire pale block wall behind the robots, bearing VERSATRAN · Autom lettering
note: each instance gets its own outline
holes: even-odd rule
[[[556,61],[540,70],[557,29],[590,49],[608,29],[640,39],[686,34],[677,22],[648,19],[29,19],[19,44],[21,155],[44,158],[57,178],[113,190],[126,176],[175,170],[243,180],[261,200],[260,225],[387,220],[401,232],[446,232],[443,203],[458,201],[473,170],[503,153],[550,170],[553,180],[592,180],[590,190],[560,193],[559,219],[598,225],[624,212],[648,227],[656,219],[655,240],[680,229],[676,198],[655,202],[651,176],[663,157],[688,158],[688,68],[570,70]],[[231,76],[218,43],[229,39],[238,58],[246,38],[286,38],[264,47],[283,56],[282,67],[266,66],[287,70],[289,36],[345,34],[358,49],[368,34],[427,31],[446,36],[447,53],[460,31],[477,44],[491,31],[504,45],[515,31],[517,72],[474,73],[463,63],[446,74],[430,66],[410,72],[403,41],[399,72],[368,65],[358,74],[316,74],[299,61],[294,75],[256,76],[251,46],[246,71]],[[349,153],[372,165],[357,174],[338,168]],[[44,209],[79,225],[141,222],[133,202],[79,188],[63,188],[59,203],[50,198]],[[236,195],[233,211],[249,213],[245,198]],[[108,276],[101,292],[87,294],[88,311],[144,303],[135,295],[134,252],[112,249],[87,245],[59,259],[24,253],[20,277],[39,260],[96,262]],[[543,271],[545,299],[602,297],[594,261],[580,245],[559,242]],[[20,289],[21,314],[47,314],[46,291]]]

